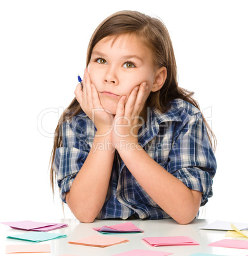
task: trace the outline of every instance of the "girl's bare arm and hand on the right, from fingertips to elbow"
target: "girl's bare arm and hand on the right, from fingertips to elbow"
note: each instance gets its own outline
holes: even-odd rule
[[[137,94],[132,92],[125,106],[124,101],[120,101],[115,117],[115,119],[118,118],[119,122],[118,124],[114,122],[114,131],[118,131],[113,132],[114,145],[117,146],[116,149],[129,171],[153,201],[179,224],[188,224],[195,218],[200,208],[202,192],[188,188],[181,180],[156,163],[138,144],[137,136],[130,132],[130,127],[137,125],[134,117],[141,113],[141,106],[144,106],[142,102],[144,95],[144,87],[140,86],[139,92]],[[130,106],[133,106],[132,110]],[[121,117],[125,118],[121,119]],[[125,122],[127,119],[130,120],[130,125]],[[128,136],[124,140],[120,134],[128,134]],[[124,141],[127,146],[123,145]],[[189,155],[186,157],[189,159]]]

